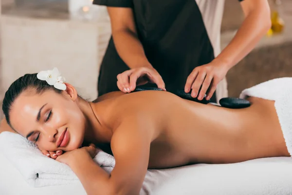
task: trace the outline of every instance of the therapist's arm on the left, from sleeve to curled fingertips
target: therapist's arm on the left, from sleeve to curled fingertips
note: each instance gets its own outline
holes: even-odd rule
[[[157,84],[165,90],[165,84],[160,74],[152,67],[146,58],[144,48],[138,39],[133,11],[131,8],[108,7],[112,37],[115,48],[130,70],[117,75],[118,88],[129,93],[137,85],[147,82]]]

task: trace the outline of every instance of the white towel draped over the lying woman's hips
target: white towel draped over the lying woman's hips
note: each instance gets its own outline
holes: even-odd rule
[[[257,97],[274,100],[283,136],[292,156],[292,78],[275,78],[241,92],[239,98]]]

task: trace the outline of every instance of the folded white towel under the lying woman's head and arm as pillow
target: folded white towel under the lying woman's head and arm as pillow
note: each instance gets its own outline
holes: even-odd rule
[[[79,181],[68,165],[44,156],[34,143],[18,134],[2,132],[0,151],[31,186],[63,185]],[[113,156],[100,149],[97,149],[94,161],[107,172],[115,165]]]

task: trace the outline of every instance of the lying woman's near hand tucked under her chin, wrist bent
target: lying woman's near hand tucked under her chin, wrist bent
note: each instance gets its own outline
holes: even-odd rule
[[[94,144],[90,144],[88,147],[82,147],[70,152],[66,152],[63,155],[57,156],[55,159],[59,162],[65,163],[70,166],[71,163],[78,160],[84,160],[86,158],[93,158],[96,155],[96,148]]]

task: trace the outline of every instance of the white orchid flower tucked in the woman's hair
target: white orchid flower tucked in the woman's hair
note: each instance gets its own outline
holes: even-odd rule
[[[47,81],[49,85],[54,85],[56,89],[66,89],[66,85],[64,84],[65,78],[61,77],[61,74],[57,68],[54,68],[53,70],[40,71],[37,74],[37,78]]]

